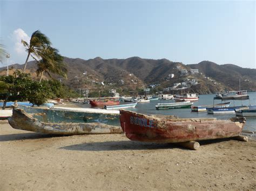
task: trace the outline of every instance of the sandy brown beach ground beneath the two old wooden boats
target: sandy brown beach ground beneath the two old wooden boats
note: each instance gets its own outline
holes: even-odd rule
[[[123,134],[49,136],[0,121],[1,190],[255,190],[256,141],[132,142]]]

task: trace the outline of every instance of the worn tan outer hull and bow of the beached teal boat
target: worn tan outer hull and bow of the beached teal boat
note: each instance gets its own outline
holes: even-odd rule
[[[9,124],[14,129],[41,132],[56,135],[83,135],[102,133],[122,133],[119,126],[106,125],[103,123],[45,123],[24,110],[14,108],[12,117],[8,118]]]

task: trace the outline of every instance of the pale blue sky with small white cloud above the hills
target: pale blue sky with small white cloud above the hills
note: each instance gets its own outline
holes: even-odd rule
[[[23,64],[40,30],[69,58],[209,60],[256,68],[256,1],[6,1],[0,38]],[[7,60],[1,64],[6,66]]]

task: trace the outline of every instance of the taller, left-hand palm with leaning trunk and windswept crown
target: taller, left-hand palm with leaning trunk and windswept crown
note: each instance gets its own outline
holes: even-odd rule
[[[26,63],[29,60],[29,56],[32,54],[35,56],[39,56],[39,53],[44,48],[51,45],[51,41],[49,40],[48,37],[45,36],[45,34],[41,33],[41,31],[37,30],[32,33],[29,44],[24,40],[22,40],[22,44],[27,48],[26,52],[28,52],[28,56],[26,57],[25,65],[23,68],[23,71],[25,71]]]

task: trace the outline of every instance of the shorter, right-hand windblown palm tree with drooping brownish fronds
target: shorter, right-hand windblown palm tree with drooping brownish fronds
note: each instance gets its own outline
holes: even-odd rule
[[[46,47],[41,53],[41,60],[37,61],[37,76],[40,75],[39,82],[42,81],[43,73],[45,72],[51,77],[51,73],[66,77],[66,66],[63,63],[63,56],[59,54],[56,48]]]

